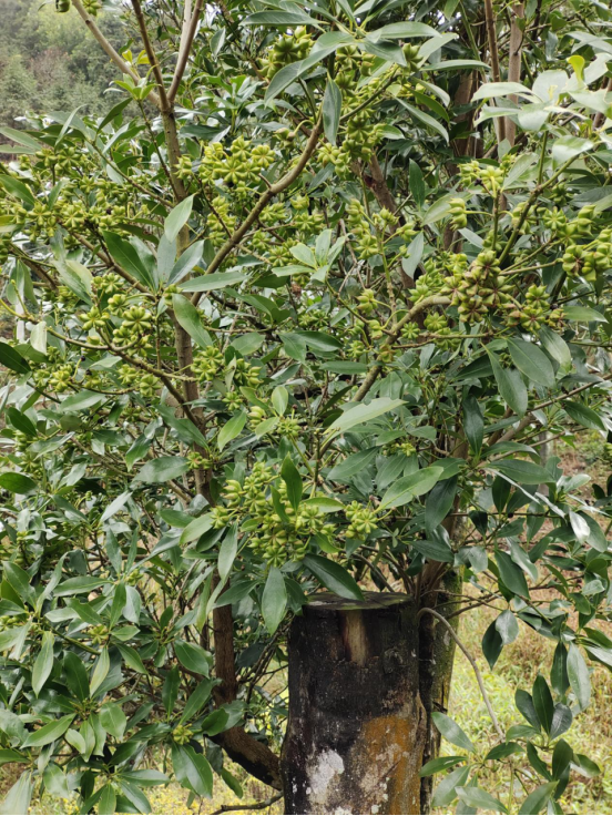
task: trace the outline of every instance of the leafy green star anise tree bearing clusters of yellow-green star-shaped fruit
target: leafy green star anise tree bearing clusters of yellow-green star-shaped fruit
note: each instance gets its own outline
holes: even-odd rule
[[[72,7],[99,34],[113,12]],[[106,116],[2,131],[4,812],[39,786],[100,814],[171,776],[238,789],[220,746],[277,785],[265,679],[306,595],[399,589],[427,615],[455,569],[456,614],[499,610],[491,666],[521,625],[557,649],[494,746],[434,715],[460,748],[425,769],[452,768],[435,805],[559,813],[598,773],[562,736],[585,656],[612,666],[610,486],[541,456],[612,430],[610,14],[121,14]]]

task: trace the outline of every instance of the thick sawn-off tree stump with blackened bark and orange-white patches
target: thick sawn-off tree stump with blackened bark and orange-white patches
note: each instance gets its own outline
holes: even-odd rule
[[[317,594],[289,634],[287,814],[418,814],[427,743],[415,602]]]

